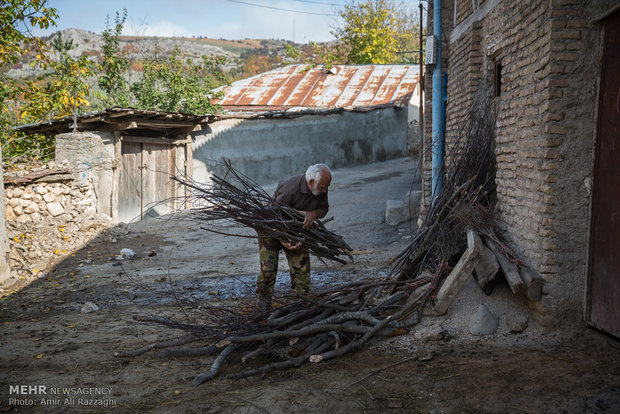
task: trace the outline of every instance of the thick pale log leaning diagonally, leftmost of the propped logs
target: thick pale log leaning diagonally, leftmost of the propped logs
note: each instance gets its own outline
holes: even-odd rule
[[[459,259],[452,272],[446,278],[446,281],[441,286],[439,293],[437,293],[437,303],[433,310],[441,315],[446,313],[450,304],[456,298],[465,281],[471,275],[480,259],[480,246],[482,241],[480,236],[474,233],[473,230],[467,230],[467,250],[463,253],[463,256]]]

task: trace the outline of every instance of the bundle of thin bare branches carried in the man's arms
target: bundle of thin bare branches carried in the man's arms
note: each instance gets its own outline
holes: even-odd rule
[[[328,220],[316,220],[310,228],[303,227],[304,216],[292,207],[278,203],[249,177],[236,171],[230,161],[224,160],[223,177],[213,175],[211,183],[201,184],[187,178],[173,177],[189,190],[181,201],[191,206],[190,216],[205,230],[240,237],[245,233],[218,230],[218,221],[236,222],[251,227],[266,236],[293,245],[301,242],[320,259],[346,263],[341,256],[351,256],[351,247],[339,235],[324,226]]]

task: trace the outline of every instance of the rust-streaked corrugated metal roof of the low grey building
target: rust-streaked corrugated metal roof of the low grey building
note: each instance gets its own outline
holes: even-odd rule
[[[414,65],[289,65],[221,89],[224,108],[405,106],[420,79]]]

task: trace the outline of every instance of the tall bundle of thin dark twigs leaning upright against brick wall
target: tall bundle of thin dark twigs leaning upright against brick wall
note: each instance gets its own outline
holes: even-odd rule
[[[495,192],[494,117],[489,98],[480,95],[454,137],[444,166],[445,180],[435,194],[423,224],[407,248],[391,263],[397,280],[412,280],[426,269],[436,276],[433,287],[463,251],[465,228],[493,233]]]

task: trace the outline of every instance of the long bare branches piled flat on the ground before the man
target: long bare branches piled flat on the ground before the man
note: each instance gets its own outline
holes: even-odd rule
[[[398,292],[389,294],[395,286]],[[253,363],[250,369],[229,374],[232,379],[318,363],[358,349],[374,335],[406,333],[419,321],[423,304],[421,295],[415,293],[417,286],[387,279],[351,283],[311,295],[284,297],[270,315],[247,312],[247,308],[203,305],[205,318],[199,323],[137,316],[137,321],[182,330],[185,335],[115,356],[132,357],[155,348],[166,348],[160,357],[217,355],[209,371],[194,378],[194,386],[214,378],[227,359],[237,363],[263,361],[262,365]],[[208,344],[169,349],[197,341]]]

